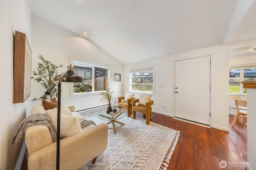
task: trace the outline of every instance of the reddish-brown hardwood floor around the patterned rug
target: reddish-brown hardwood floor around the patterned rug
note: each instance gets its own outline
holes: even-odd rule
[[[143,117],[141,113],[136,113],[136,116]],[[167,170],[244,170],[244,166],[219,166],[221,160],[225,160],[227,164],[247,161],[247,126],[236,122],[234,127],[231,127],[233,119],[234,116],[229,115],[228,133],[152,113],[150,121],[180,131]],[[22,170],[27,170],[26,164],[24,158]]]

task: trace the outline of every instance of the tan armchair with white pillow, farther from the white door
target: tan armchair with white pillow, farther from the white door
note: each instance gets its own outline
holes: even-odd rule
[[[126,108],[127,109],[127,117],[131,116],[132,110],[132,100],[135,99],[134,94],[126,93],[125,96],[118,97],[118,108]]]

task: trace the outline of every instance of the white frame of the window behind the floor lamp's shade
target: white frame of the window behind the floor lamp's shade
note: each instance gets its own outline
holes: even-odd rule
[[[106,65],[106,64],[102,64],[102,63],[97,63],[97,62],[93,62],[93,61],[87,61],[87,60],[83,60],[80,58],[74,58],[74,57],[70,57],[70,63],[72,63],[72,65],[74,66],[74,63],[84,63],[84,64],[88,64],[90,66],[92,66],[92,87],[94,87],[94,67],[98,67],[98,68],[103,68],[103,69],[107,69],[107,81],[106,81],[106,87],[108,88],[110,85],[110,66]],[[70,83],[70,97],[71,98],[75,98],[75,97],[82,97],[82,96],[96,96],[99,95],[101,92],[106,92],[106,90],[100,90],[100,91],[94,91],[94,88],[92,88],[92,92],[84,92],[84,93],[74,93],[74,83]]]

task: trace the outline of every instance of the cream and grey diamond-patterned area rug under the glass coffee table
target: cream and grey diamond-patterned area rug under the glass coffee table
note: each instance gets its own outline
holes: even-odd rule
[[[96,125],[107,123],[96,113],[84,115]],[[96,163],[89,162],[81,170],[166,170],[174,152],[179,131],[146,121],[140,117],[124,117],[108,125],[108,148],[100,154]]]

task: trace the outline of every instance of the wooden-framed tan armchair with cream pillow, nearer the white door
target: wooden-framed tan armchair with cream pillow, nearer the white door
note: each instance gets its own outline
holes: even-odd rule
[[[154,100],[150,100],[151,96],[140,95],[139,99],[132,100],[132,119],[136,118],[136,112],[146,115],[146,124],[150,123],[150,116]],[[136,105],[138,103],[138,105]]]

